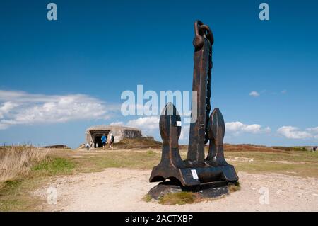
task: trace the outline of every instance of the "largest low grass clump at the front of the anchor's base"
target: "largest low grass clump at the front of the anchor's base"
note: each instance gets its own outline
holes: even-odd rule
[[[187,191],[180,191],[165,194],[158,199],[158,203],[163,205],[184,205],[195,203],[196,200],[196,194]]]

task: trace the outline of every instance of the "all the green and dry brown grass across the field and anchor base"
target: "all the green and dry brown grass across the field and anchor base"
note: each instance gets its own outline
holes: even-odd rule
[[[126,149],[131,142],[134,148]],[[44,186],[54,176],[102,171],[110,167],[150,170],[160,162],[159,144],[146,140],[143,141],[143,149],[138,149],[136,143],[136,140],[127,140],[122,144],[123,149],[115,145],[114,150],[88,152],[0,147],[0,211],[41,210],[43,201],[31,196],[30,191]],[[180,154],[185,159],[187,147],[182,147]],[[225,145],[225,158],[237,171],[318,178],[318,152],[307,152],[302,148]],[[240,184],[230,186],[232,192],[237,189],[240,189]],[[145,197],[144,200],[151,199]],[[192,202],[196,202],[196,197],[189,192],[173,193],[160,199],[160,203],[165,205]]]

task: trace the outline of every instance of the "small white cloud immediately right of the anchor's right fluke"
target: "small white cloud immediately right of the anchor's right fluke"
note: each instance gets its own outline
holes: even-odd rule
[[[241,122],[225,123],[225,130],[228,132],[234,132],[235,134],[238,134],[240,132],[249,132],[254,134],[271,132],[271,128],[269,127],[263,128],[259,124],[248,125]]]

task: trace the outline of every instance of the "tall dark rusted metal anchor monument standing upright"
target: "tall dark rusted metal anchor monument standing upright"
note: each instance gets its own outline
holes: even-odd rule
[[[218,108],[210,115],[211,69],[213,34],[201,21],[194,23],[194,73],[193,91],[197,95],[197,108],[192,108],[189,149],[187,159],[179,154],[181,118],[175,106],[167,103],[160,115],[160,135],[163,139],[161,161],[153,167],[150,182],[179,181],[182,186],[196,186],[214,181],[238,181],[234,166],[225,161],[223,138],[225,123]],[[194,98],[194,97],[192,97]],[[196,111],[196,112],[195,112]],[[208,156],[204,157],[204,145],[209,141]]]

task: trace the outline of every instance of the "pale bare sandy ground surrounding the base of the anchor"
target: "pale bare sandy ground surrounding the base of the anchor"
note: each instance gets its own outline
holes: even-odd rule
[[[318,179],[314,178],[240,172],[241,190],[225,198],[187,205],[160,205],[142,200],[156,185],[148,183],[150,174],[151,171],[105,169],[63,176],[34,195],[46,202],[47,188],[57,189],[57,204],[40,208],[46,211],[318,211]],[[260,192],[266,195],[266,189],[269,203],[261,204]]]

